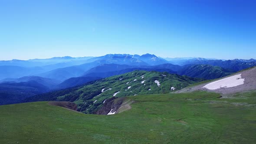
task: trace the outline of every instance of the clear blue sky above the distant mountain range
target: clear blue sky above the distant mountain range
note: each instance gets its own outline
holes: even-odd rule
[[[256,59],[251,0],[0,0],[0,59]]]

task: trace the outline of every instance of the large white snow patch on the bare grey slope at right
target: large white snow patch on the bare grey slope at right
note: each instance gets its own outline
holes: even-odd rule
[[[225,79],[220,79],[215,82],[211,82],[207,85],[205,85],[203,88],[207,88],[210,90],[213,89],[219,89],[219,88],[231,88],[235,87],[237,85],[243,85],[244,79],[241,79],[241,74],[239,75],[233,75]]]

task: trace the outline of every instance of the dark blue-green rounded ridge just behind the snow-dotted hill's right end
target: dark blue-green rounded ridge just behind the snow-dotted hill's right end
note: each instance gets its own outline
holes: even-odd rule
[[[223,69],[219,66],[212,65],[184,65],[183,67],[183,69],[177,72],[179,75],[187,75],[203,79],[217,79],[234,72],[229,69]]]

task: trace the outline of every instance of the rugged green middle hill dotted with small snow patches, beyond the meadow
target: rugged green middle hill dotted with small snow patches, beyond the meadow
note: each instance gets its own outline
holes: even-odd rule
[[[92,82],[88,85],[50,92],[28,98],[29,101],[74,101],[78,111],[93,113],[108,98],[129,95],[169,93],[203,81],[167,72],[134,71]]]

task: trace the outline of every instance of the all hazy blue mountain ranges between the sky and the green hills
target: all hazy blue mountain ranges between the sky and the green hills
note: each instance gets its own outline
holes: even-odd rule
[[[0,61],[0,101],[1,104],[18,103],[33,95],[84,85],[135,70],[217,79],[255,65],[255,59],[163,59],[151,54]],[[7,97],[10,97],[8,101]]]

